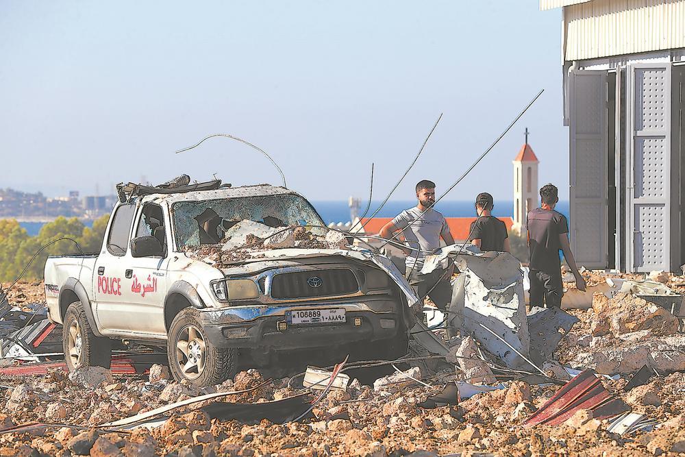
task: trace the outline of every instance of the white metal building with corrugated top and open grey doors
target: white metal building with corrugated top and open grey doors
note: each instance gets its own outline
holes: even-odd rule
[[[563,8],[571,246],[578,264],[685,264],[685,0],[540,0]]]

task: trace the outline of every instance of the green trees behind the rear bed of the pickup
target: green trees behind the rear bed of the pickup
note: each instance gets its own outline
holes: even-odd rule
[[[12,282],[21,274],[38,250],[59,238],[71,238],[85,253],[98,252],[102,246],[109,215],[100,217],[86,227],[75,217],[58,217],[40,228],[36,236],[29,236],[14,219],[0,219],[0,282]],[[49,255],[78,254],[79,248],[70,240],[60,240],[44,249],[29,265],[23,280],[42,280],[45,261]]]

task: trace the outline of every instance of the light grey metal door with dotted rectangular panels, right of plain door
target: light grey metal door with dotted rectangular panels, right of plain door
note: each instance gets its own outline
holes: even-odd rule
[[[671,64],[627,67],[627,268],[669,270]]]

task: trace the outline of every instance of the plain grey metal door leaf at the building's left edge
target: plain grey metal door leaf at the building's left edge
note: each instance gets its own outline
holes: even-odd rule
[[[570,84],[569,234],[575,262],[604,269],[607,236],[607,72],[575,70]]]

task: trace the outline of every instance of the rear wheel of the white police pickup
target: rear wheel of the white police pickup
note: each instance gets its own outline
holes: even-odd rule
[[[112,363],[110,338],[99,338],[93,334],[80,301],[74,301],[66,308],[62,327],[62,347],[66,368],[70,372],[79,367],[109,369]]]

